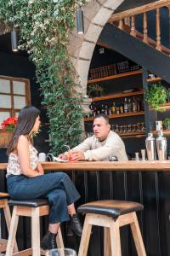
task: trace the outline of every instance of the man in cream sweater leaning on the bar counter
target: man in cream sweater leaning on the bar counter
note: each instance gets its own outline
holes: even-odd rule
[[[117,160],[127,160],[122,138],[111,131],[107,115],[100,114],[94,119],[93,130],[93,137],[71,149],[71,160],[110,160],[112,156]],[[67,160],[67,153],[59,154],[59,158]]]

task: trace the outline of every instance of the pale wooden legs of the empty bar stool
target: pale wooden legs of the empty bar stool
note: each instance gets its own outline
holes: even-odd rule
[[[86,256],[92,225],[104,227],[104,255],[121,256],[120,227],[130,224],[133,232],[133,239],[139,256],[146,256],[144,243],[139,230],[139,223],[136,212],[123,214],[116,218],[116,221],[105,215],[87,213],[82,230],[82,239],[78,256]]]

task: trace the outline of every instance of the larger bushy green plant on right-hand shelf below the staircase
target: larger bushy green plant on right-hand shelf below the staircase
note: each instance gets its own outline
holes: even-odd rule
[[[161,83],[151,84],[146,90],[146,102],[151,108],[163,111],[160,107],[167,102],[167,89]]]

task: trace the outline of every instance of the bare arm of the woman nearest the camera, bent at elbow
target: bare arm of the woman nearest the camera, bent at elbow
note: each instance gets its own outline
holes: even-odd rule
[[[17,153],[20,161],[20,170],[27,177],[37,177],[42,175],[41,172],[31,170],[30,168],[30,153],[29,153],[29,142],[23,135],[19,137],[17,144]]]

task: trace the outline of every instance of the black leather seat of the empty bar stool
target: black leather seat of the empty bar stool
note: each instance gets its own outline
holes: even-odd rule
[[[92,201],[77,208],[78,212],[95,213],[116,218],[122,214],[137,212],[144,206],[133,201],[103,200]]]

